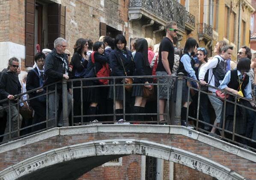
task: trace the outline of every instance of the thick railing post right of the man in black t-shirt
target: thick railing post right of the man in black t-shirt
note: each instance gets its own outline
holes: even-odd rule
[[[183,85],[183,73],[178,73],[177,90],[176,90],[176,105],[175,105],[175,117],[173,125],[181,125],[181,113],[182,113],[182,85]],[[176,88],[176,87],[175,87]]]

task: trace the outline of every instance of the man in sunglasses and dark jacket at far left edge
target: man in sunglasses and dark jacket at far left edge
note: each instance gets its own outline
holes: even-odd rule
[[[11,134],[11,138],[18,137],[18,109],[17,105],[13,105],[17,103],[17,99],[15,98],[15,95],[18,95],[21,93],[21,83],[18,79],[17,71],[19,69],[19,60],[15,57],[10,58],[8,60],[8,67],[6,71],[3,71],[0,76],[0,96],[2,99],[8,99],[5,102],[3,102],[3,107],[6,107],[4,109],[7,112],[7,122],[6,122],[6,128],[4,134],[9,133],[9,126],[11,126],[11,131],[16,131]],[[10,100],[10,110],[11,110],[11,125],[9,125],[9,100]],[[13,105],[13,106],[12,106]],[[19,125],[21,126],[21,121]],[[3,140],[7,140],[9,137],[9,134],[4,136]]]

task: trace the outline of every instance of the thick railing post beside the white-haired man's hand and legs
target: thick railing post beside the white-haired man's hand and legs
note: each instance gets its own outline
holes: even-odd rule
[[[67,81],[62,81],[62,103],[63,103],[63,126],[69,126],[68,123],[68,86]]]

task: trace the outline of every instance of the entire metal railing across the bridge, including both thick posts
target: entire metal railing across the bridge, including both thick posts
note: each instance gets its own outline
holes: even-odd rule
[[[152,78],[156,78],[155,83],[149,83],[149,85],[154,85],[155,86],[155,98],[150,99],[150,101],[148,101],[147,103],[151,103],[152,105],[150,105],[150,107],[153,107],[153,110],[151,110],[148,113],[132,113],[129,111],[130,106],[134,105],[134,102],[132,102],[131,100],[128,100],[127,98],[129,96],[131,96],[131,93],[128,93],[127,91],[125,91],[125,78],[148,78],[148,79],[152,79]],[[171,78],[171,81],[167,81],[166,84],[164,83],[160,83],[159,80],[160,78]],[[16,107],[17,108],[17,112],[18,114],[20,113],[20,103],[22,102],[30,102],[33,99],[35,100],[36,98],[38,98],[39,96],[35,96],[32,98],[28,98],[25,101],[19,101],[19,99],[21,99],[21,97],[25,94],[28,93],[32,93],[35,92],[36,90],[41,89],[36,88],[34,90],[30,90],[27,91],[26,93],[22,93],[19,94],[17,96],[15,96],[15,98],[17,99],[17,102],[13,103],[11,102],[9,99],[4,99],[1,100],[0,103],[5,104],[5,106],[0,107],[0,111],[4,110],[5,112],[8,113],[8,119],[7,121],[9,121],[9,129],[7,129],[8,131],[6,131],[5,134],[0,135],[0,138],[3,138],[3,142],[8,142],[10,140],[14,140],[14,139],[18,139],[24,136],[28,136],[31,134],[36,134],[40,131],[44,131],[47,130],[49,128],[53,128],[53,127],[57,127],[58,125],[58,117],[60,116],[60,108],[59,108],[59,113],[58,113],[58,108],[57,108],[57,96],[59,96],[62,92],[62,95],[60,96],[62,99],[62,106],[63,106],[63,126],[74,126],[74,125],[86,125],[86,124],[91,124],[91,123],[116,123],[119,119],[116,119],[117,116],[122,116],[122,119],[125,119],[126,122],[130,122],[130,123],[150,123],[150,124],[160,124],[159,122],[159,117],[161,115],[165,116],[166,119],[166,124],[169,125],[181,125],[181,112],[182,112],[182,88],[184,86],[184,82],[183,81],[195,81],[191,78],[185,77],[183,75],[179,75],[177,76],[124,76],[124,77],[106,77],[106,78],[101,78],[101,79],[109,79],[111,81],[110,84],[107,85],[86,85],[87,81],[97,81],[99,78],[81,78],[81,79],[70,79],[67,81],[62,81],[61,85],[60,82],[58,83],[54,83],[54,84],[50,84],[48,86],[45,86],[45,93],[41,94],[40,96],[46,96],[46,102],[45,102],[45,107],[46,107],[46,115],[45,115],[45,120],[42,120],[41,122],[38,122],[36,124],[31,124],[25,127],[21,127],[20,124],[20,117],[18,116],[18,120],[17,122],[13,122],[12,119],[12,111],[11,108],[12,107]],[[122,83],[121,83],[122,81]],[[195,81],[197,83],[199,83],[199,81]],[[175,84],[175,86],[174,86]],[[132,84],[132,86],[135,85],[145,85],[145,84]],[[166,101],[166,110],[164,111],[164,113],[160,113],[159,111],[159,99],[160,99],[160,91],[159,91],[159,87],[165,85],[167,87],[167,101]],[[216,87],[212,87],[210,85],[205,85],[207,87],[211,87],[214,89],[218,89]],[[86,100],[84,97],[84,90],[88,90],[89,88],[101,88],[102,89],[102,94],[108,93],[109,88],[113,87],[113,99],[110,100],[110,102],[108,102],[109,104],[104,104],[104,106],[110,107],[109,111],[105,111],[106,113],[96,113],[93,115],[89,115],[88,113],[86,113],[85,110],[87,110],[86,106],[83,106],[86,104]],[[116,88],[118,87],[122,87],[123,90],[123,113],[116,113]],[[71,90],[71,96],[72,96],[72,102],[71,104],[68,103],[68,88],[70,88]],[[171,95],[169,95],[169,92],[173,92],[173,90],[177,88],[176,91],[176,99],[174,99]],[[252,144],[256,143],[256,139],[252,139],[252,135],[247,136],[244,134],[238,134],[236,131],[236,123],[238,122],[238,120],[236,119],[236,117],[234,116],[233,119],[233,125],[232,125],[232,131],[227,130],[225,128],[226,125],[226,104],[227,103],[231,103],[235,105],[235,109],[234,109],[234,114],[236,113],[237,107],[241,107],[244,108],[246,110],[250,110],[252,112],[256,112],[255,109],[251,108],[251,107],[247,107],[241,103],[238,102],[238,99],[243,100],[243,101],[247,101],[247,102],[252,102],[252,103],[256,103],[253,100],[250,99],[246,99],[246,98],[242,98],[239,96],[236,96],[232,93],[229,93],[225,90],[223,90],[225,93],[229,93],[230,95],[235,97],[235,101],[229,101],[228,99],[223,99],[223,121],[221,122],[220,126],[214,126],[212,125],[213,123],[209,123],[209,122],[205,122],[201,117],[200,117],[200,98],[202,94],[205,94],[207,96],[210,96],[211,94],[208,93],[208,91],[203,91],[201,90],[201,86],[199,85],[199,88],[194,88],[194,87],[188,87],[188,102],[189,99],[191,98],[191,90],[194,90],[197,94],[198,97],[197,99],[197,105],[196,105],[196,115],[193,116],[189,113],[189,109],[192,108],[193,106],[189,106],[187,109],[187,114],[186,114],[186,121],[187,122],[193,122],[191,124],[191,126],[193,126],[193,128],[195,128],[196,131],[201,131],[203,133],[210,133],[210,130],[205,130],[203,128],[203,126],[209,126],[209,127],[214,127],[217,128],[217,131],[219,131],[220,133],[215,134],[215,136],[217,138],[220,138],[222,140],[234,143],[236,145],[241,145],[241,146],[245,146],[247,148],[250,148],[251,150],[255,151],[256,149],[253,147],[250,147]],[[49,118],[49,96],[54,95],[54,118]],[[102,95],[102,98],[104,98],[104,96]],[[107,98],[105,98],[106,101]],[[148,99],[149,100],[149,99]],[[175,102],[175,103],[174,103]],[[6,103],[8,105],[6,105]],[[53,107],[53,105],[51,105],[51,107]],[[77,107],[78,111],[77,111]],[[175,107],[175,108],[173,108]],[[71,109],[71,113],[68,113],[68,109]],[[76,113],[74,112],[76,111]],[[173,111],[173,112],[172,112]],[[78,113],[77,113],[78,112]],[[134,115],[139,115],[139,116],[146,116],[146,121],[140,121],[138,122],[136,119],[133,120],[131,119],[131,116]],[[210,116],[210,115],[209,115]],[[98,122],[90,122],[88,119],[90,117],[95,117],[95,119],[98,119]],[[24,120],[24,119],[23,119]],[[183,119],[184,120],[184,119]],[[16,127],[12,127],[12,125],[16,125]],[[255,124],[255,123],[254,123]],[[35,128],[35,126],[38,125],[44,125],[43,128],[40,128],[39,130],[36,131],[30,131],[28,133],[22,133],[22,131],[26,131],[26,130],[30,130],[31,128]],[[253,133],[256,133],[256,124],[254,125],[255,129],[253,131]],[[247,143],[244,143],[247,142]]]

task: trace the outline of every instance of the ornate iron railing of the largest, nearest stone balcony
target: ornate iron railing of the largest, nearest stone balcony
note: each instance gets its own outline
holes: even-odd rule
[[[163,18],[174,21],[177,26],[185,30],[185,7],[175,0],[130,0],[129,8],[140,7]]]

